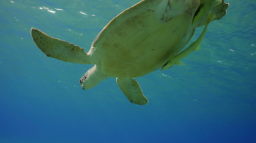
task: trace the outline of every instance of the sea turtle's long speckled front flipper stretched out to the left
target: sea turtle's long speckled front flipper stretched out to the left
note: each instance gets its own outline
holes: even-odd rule
[[[79,46],[50,37],[34,28],[31,29],[31,36],[37,47],[41,49],[47,57],[54,57],[65,62],[93,64],[91,59],[88,58],[90,56]]]

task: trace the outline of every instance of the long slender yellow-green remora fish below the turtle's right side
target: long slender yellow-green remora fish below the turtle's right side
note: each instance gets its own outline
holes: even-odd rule
[[[182,51],[175,57],[174,57],[173,53],[171,53],[170,60],[163,65],[161,70],[169,69],[170,67],[174,66],[175,64],[184,65],[184,63],[182,63],[180,60],[182,58],[186,57],[192,51],[197,51],[200,49],[201,42],[206,35],[207,26],[209,25],[210,22],[212,22],[212,20],[214,18],[215,18],[215,15],[212,12],[210,12],[208,15],[208,18],[207,18],[206,26],[205,26],[203,32],[200,34],[199,38],[196,41],[194,41],[192,44],[190,44],[190,46],[187,49],[185,49],[184,51]]]

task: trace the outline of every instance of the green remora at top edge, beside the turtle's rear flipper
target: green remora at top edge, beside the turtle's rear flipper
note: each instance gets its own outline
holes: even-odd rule
[[[221,0],[200,0],[200,6],[198,6],[195,11],[194,17],[192,19],[192,25],[198,22],[209,10],[212,6],[217,6],[222,3]]]

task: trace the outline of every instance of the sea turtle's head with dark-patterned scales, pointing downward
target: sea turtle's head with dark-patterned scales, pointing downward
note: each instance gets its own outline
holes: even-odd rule
[[[100,81],[105,80],[108,76],[102,73],[102,71],[95,65],[89,69],[79,80],[82,89],[90,89],[97,86]]]

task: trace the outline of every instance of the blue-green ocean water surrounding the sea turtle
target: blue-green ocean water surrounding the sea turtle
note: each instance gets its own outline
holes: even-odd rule
[[[144,106],[115,78],[82,90],[93,65],[45,57],[30,35],[37,28],[87,52],[139,0],[0,1],[0,143],[256,143],[255,0],[225,0],[226,16],[186,65],[136,78]]]

